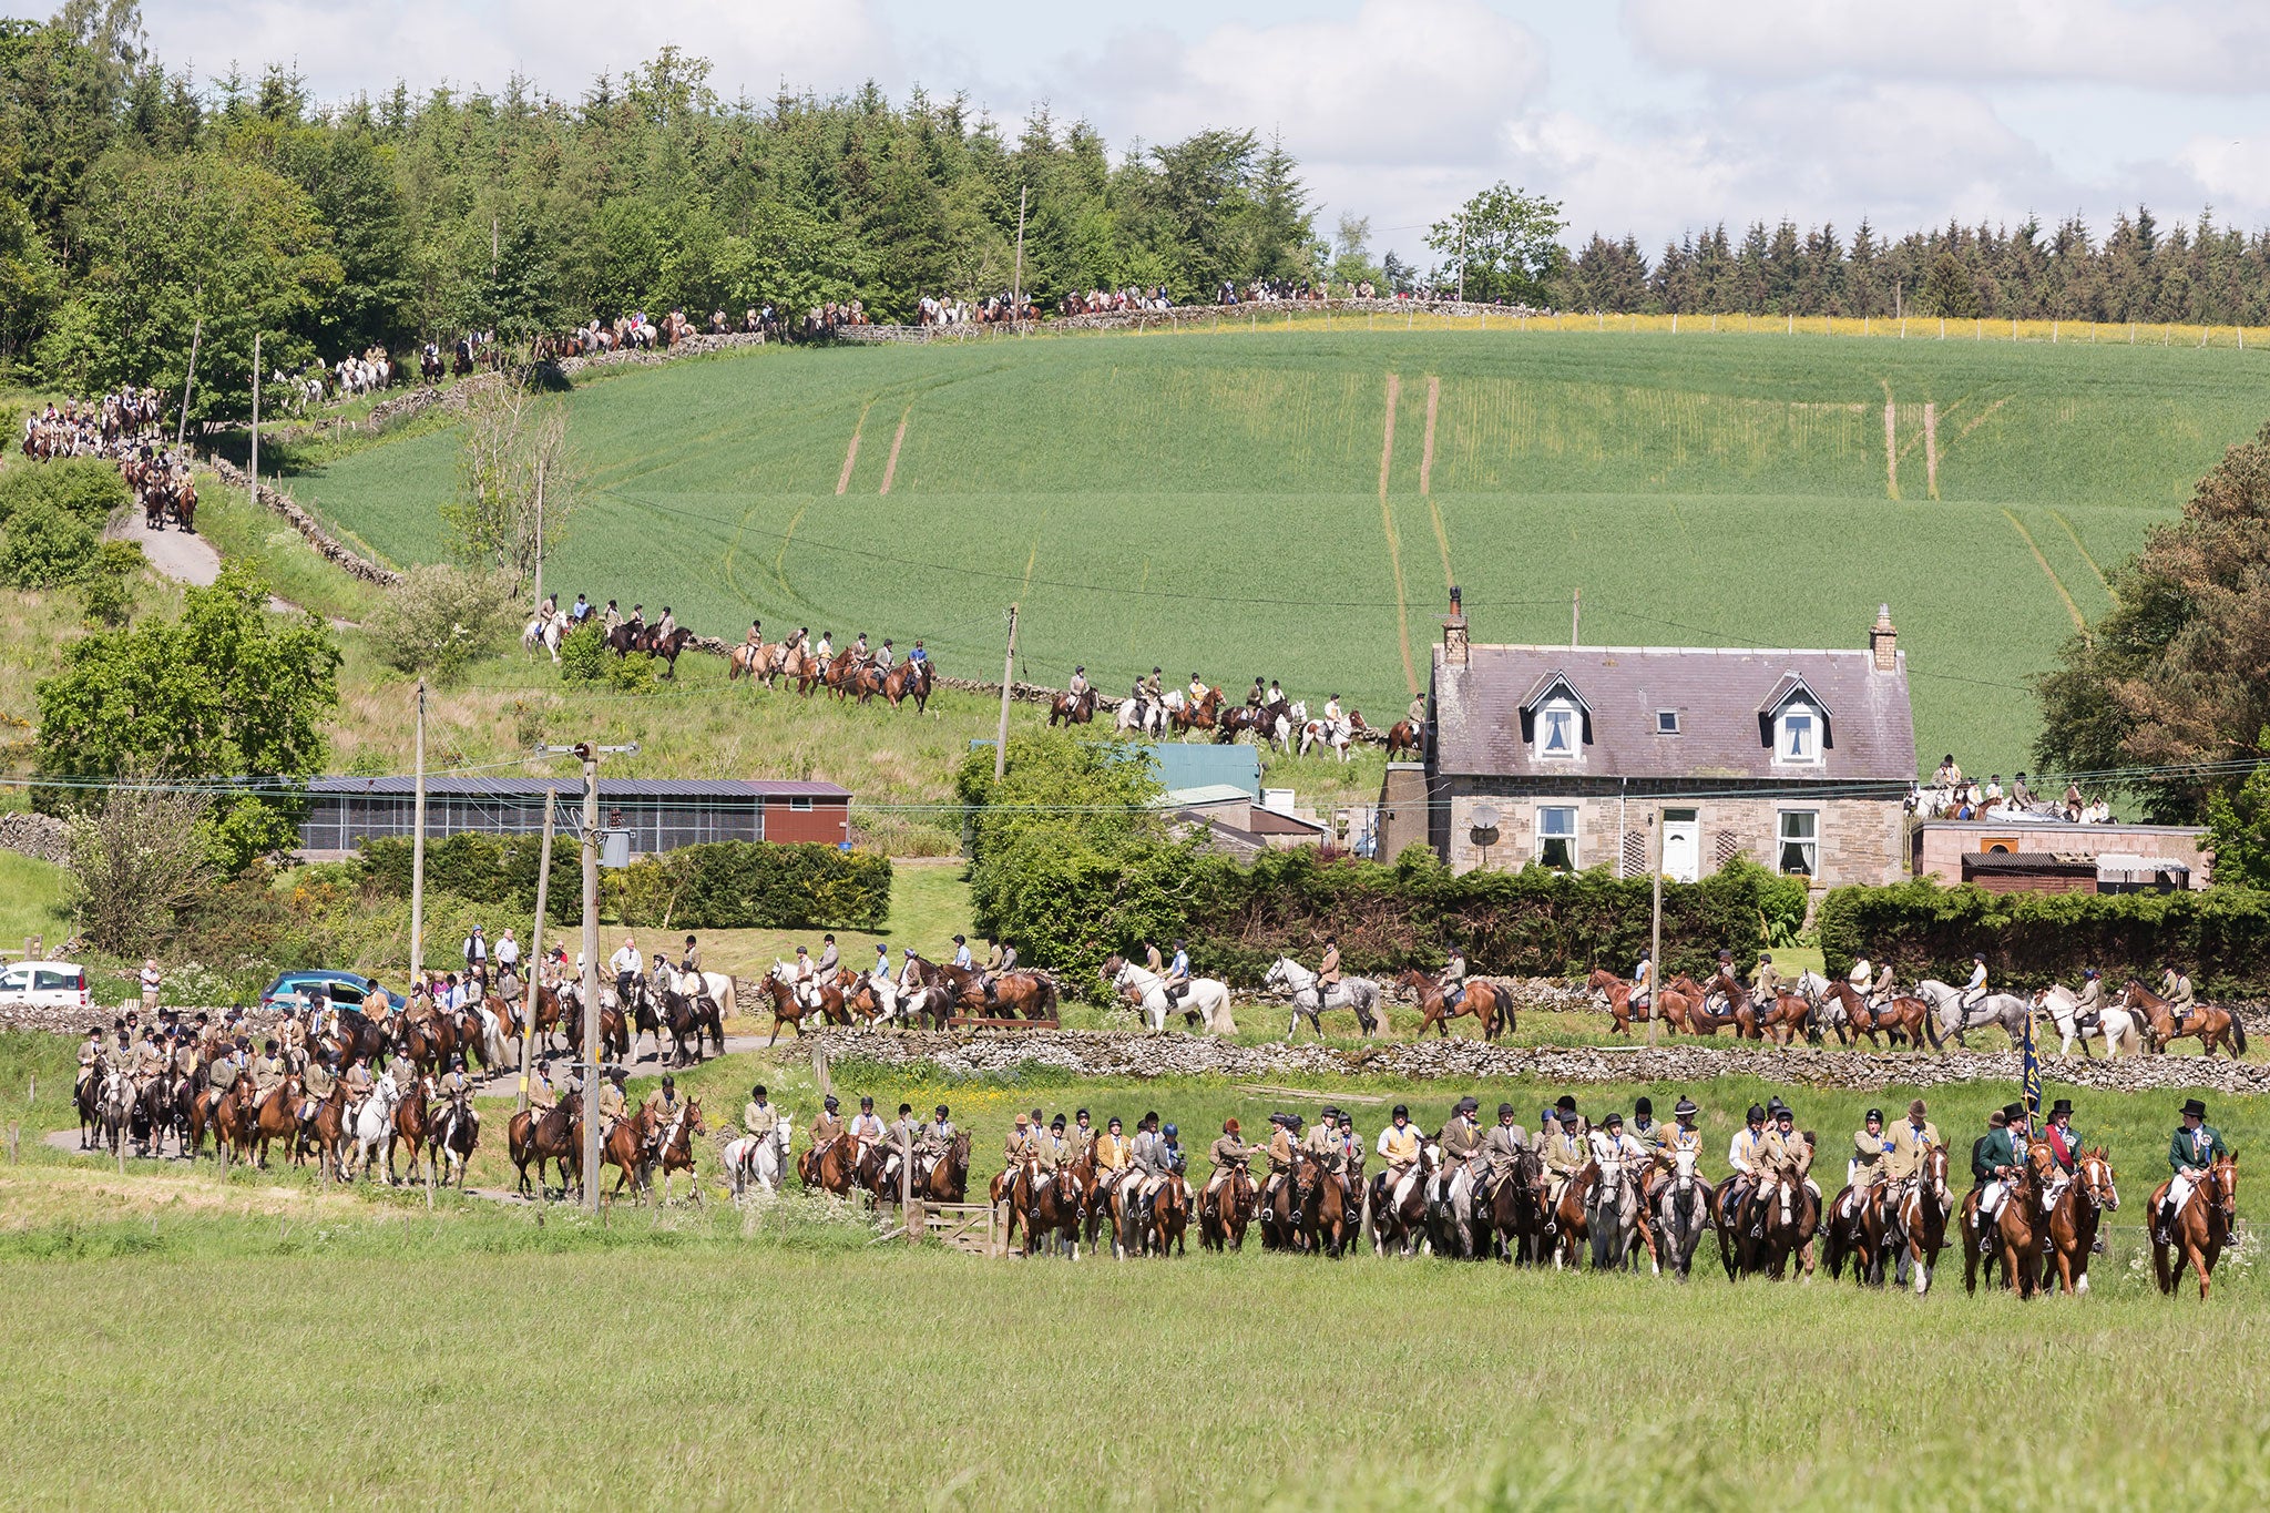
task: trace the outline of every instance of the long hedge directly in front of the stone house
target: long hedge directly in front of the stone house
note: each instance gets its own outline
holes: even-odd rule
[[[1187,844],[1017,844],[972,869],[978,928],[1028,962],[1094,975],[1103,955],[1144,939],[1189,946],[1205,975],[1258,984],[1283,953],[1314,962],[1339,941],[1351,973],[1439,971],[1457,941],[1480,973],[1630,973],[1648,948],[1648,878],[1605,871],[1453,873],[1412,848],[1394,864],[1321,860],[1314,848],[1239,864]],[[1664,885],[1664,960],[1696,978],[1721,948],[1743,966],[1805,919],[1805,885],[1737,862],[1700,882]]]

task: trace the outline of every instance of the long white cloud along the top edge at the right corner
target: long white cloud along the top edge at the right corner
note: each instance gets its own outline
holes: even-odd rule
[[[2259,93],[2261,0],[1623,0],[1634,50],[1727,79],[2091,79]]]

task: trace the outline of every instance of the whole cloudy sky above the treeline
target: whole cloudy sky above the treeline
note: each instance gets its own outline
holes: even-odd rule
[[[1105,16],[1126,16],[1108,20]],[[1040,100],[1112,147],[1280,132],[1376,250],[1494,181],[1643,243],[1789,215],[1850,229],[2161,215],[2270,225],[2263,0],[163,0],[170,66],[295,61],[327,100],[513,70],[574,95],[676,43],[726,95],[876,79]]]

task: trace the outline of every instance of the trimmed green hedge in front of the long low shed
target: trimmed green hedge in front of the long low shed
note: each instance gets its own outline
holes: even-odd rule
[[[427,889],[536,910],[536,835],[449,835],[427,842]],[[552,923],[583,914],[581,848],[552,837]],[[381,894],[411,891],[411,842],[363,842],[361,876]],[[599,873],[602,912],[633,928],[881,930],[890,919],[890,857],[835,846],[711,842]]]

